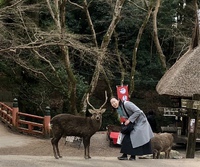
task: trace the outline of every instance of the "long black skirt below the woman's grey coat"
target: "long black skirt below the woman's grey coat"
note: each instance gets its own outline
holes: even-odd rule
[[[122,141],[120,153],[129,154],[129,155],[147,155],[152,154],[151,142],[133,148],[130,140],[130,135],[125,135]]]

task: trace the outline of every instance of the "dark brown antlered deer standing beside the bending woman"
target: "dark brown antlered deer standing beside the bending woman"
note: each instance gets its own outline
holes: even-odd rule
[[[58,148],[58,142],[61,137],[78,136],[83,139],[84,158],[89,159],[90,139],[99,130],[102,124],[102,114],[106,109],[102,109],[107,102],[107,92],[105,92],[105,102],[99,108],[95,109],[89,102],[89,94],[87,95],[87,103],[92,109],[88,111],[92,114],[91,117],[75,116],[71,114],[58,114],[51,119],[51,130],[53,138],[51,143],[53,153],[56,159],[62,158]]]

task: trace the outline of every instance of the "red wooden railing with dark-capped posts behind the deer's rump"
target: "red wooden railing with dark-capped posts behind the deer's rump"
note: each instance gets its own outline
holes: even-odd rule
[[[17,99],[14,99],[13,108],[0,102],[0,119],[11,129],[19,132],[50,137],[50,108],[46,107],[45,116],[37,116],[19,112]]]

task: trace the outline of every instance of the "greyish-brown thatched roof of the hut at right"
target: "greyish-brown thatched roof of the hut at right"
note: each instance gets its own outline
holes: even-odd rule
[[[200,46],[186,52],[156,86],[160,95],[192,97],[200,94]]]

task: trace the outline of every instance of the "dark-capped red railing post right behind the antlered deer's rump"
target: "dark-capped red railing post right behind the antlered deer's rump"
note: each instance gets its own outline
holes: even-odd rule
[[[50,114],[50,107],[46,107],[45,109],[45,116],[44,116],[44,135],[45,137],[50,137],[50,120],[51,120],[51,114]]]

